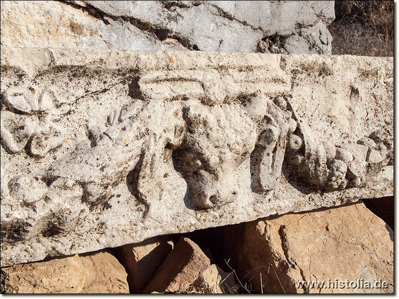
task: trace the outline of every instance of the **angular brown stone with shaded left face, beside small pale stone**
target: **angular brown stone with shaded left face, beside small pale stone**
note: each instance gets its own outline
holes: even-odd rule
[[[143,293],[178,293],[189,290],[210,261],[200,247],[182,237],[155,273]]]

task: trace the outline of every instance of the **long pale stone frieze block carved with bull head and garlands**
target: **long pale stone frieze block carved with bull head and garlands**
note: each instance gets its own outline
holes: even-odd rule
[[[393,195],[393,58],[1,48],[1,267]]]

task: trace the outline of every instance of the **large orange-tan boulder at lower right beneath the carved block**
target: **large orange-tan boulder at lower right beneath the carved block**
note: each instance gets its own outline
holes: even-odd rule
[[[245,223],[227,234],[242,236],[236,248],[225,247],[226,254],[235,257],[230,264],[238,277],[246,276],[257,292],[260,274],[264,293],[394,291],[393,231],[362,202]],[[230,237],[225,242],[230,244]],[[296,281],[325,285],[299,286]],[[384,281],[387,288],[366,285]]]

